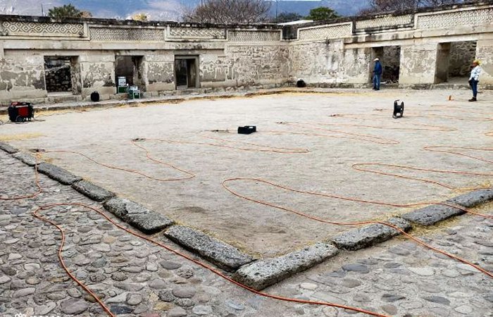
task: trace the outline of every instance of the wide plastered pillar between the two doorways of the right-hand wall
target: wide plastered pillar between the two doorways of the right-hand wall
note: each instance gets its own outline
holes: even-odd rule
[[[400,85],[431,85],[437,73],[437,43],[401,46]]]

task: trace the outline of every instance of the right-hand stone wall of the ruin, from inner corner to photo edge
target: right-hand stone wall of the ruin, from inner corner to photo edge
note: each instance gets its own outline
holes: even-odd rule
[[[449,77],[467,76],[471,61],[479,58],[480,82],[493,85],[493,66],[487,62],[493,49],[492,1],[442,12],[375,15],[349,24],[299,27],[290,43],[290,75],[310,85],[363,86],[370,82],[373,58],[380,57],[384,67],[399,66],[401,87],[432,85],[440,82],[440,44],[450,42]]]

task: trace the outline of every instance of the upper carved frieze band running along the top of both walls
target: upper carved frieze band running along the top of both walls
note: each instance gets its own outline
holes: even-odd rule
[[[493,0],[420,8],[416,11],[318,21],[302,25],[224,25],[210,23],[141,22],[101,18],[53,19],[0,15],[0,40],[81,39],[94,42],[281,42],[344,39],[401,30],[446,29],[493,23]],[[472,32],[472,31],[471,31]]]

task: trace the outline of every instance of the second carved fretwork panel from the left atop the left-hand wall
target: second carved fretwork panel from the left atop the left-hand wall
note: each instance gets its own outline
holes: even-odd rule
[[[115,42],[161,42],[164,41],[164,30],[156,29],[123,29],[116,27],[90,27],[93,41]]]

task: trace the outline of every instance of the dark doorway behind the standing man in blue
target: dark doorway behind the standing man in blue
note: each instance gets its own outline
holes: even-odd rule
[[[401,68],[401,46],[373,47],[372,61],[375,58],[379,58],[380,63],[382,63],[382,84],[398,84]],[[370,69],[370,78],[373,80],[373,66]]]

